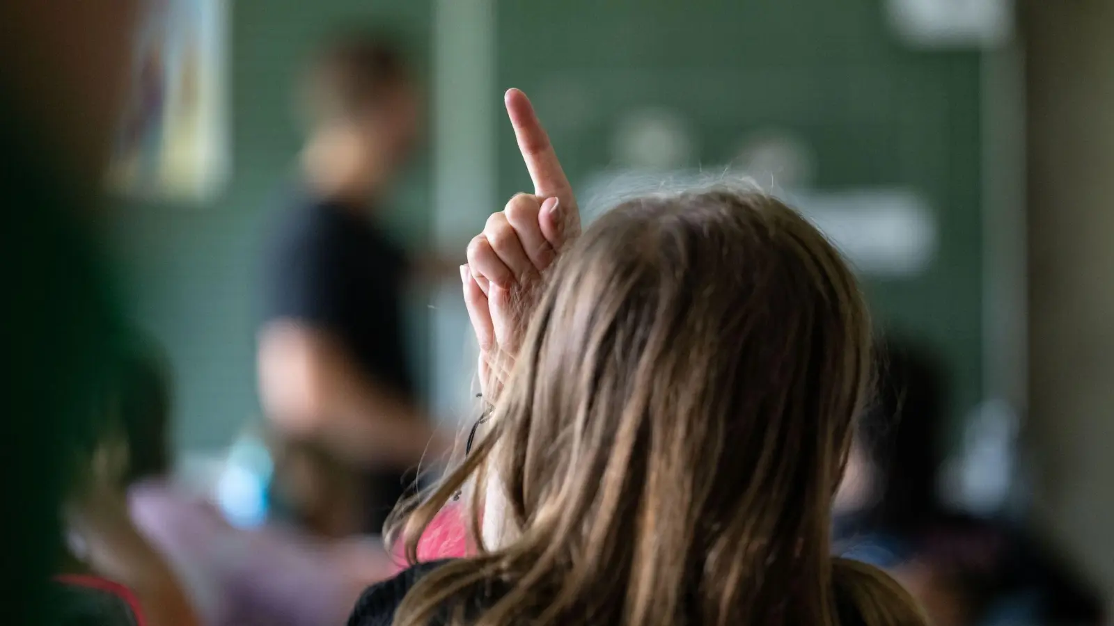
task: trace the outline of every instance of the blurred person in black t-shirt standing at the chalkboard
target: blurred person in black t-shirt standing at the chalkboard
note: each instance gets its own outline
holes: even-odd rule
[[[302,189],[268,248],[258,338],[280,442],[273,491],[319,535],[379,532],[408,472],[448,448],[404,343],[404,290],[420,264],[379,223],[419,137],[419,89],[401,52],[361,31],[328,40],[302,87]]]

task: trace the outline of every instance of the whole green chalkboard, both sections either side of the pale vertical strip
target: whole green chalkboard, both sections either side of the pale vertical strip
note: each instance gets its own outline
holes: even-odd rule
[[[231,184],[201,205],[128,203],[113,225],[135,314],[167,345],[178,376],[180,447],[219,447],[258,417],[260,246],[299,147],[289,106],[299,59],[326,29],[353,19],[402,27],[414,51],[428,53],[434,6],[229,1]],[[578,186],[606,168],[610,127],[634,105],[691,116],[701,158],[716,166],[747,130],[790,127],[817,150],[823,190],[897,185],[925,194],[941,234],[936,262],[915,280],[869,281],[868,290],[880,325],[940,351],[955,420],[981,399],[977,51],[908,49],[872,0],[495,6],[490,113],[499,116],[499,197],[528,185],[498,105],[509,86],[529,90],[553,121],[554,141]],[[565,105],[577,101],[561,96],[570,89],[589,96],[586,121],[569,121]],[[416,245],[430,239],[426,165],[416,167],[392,216]],[[416,301],[410,316],[420,362],[430,353],[428,304]]]

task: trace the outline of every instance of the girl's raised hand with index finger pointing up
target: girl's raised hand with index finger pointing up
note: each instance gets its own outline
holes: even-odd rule
[[[492,214],[483,232],[468,245],[468,264],[461,266],[465,303],[479,341],[483,383],[492,373],[496,380],[502,380],[532,312],[541,273],[580,233],[573,187],[530,100],[511,89],[506,105],[534,182],[534,194],[518,194],[501,212]],[[485,393],[489,390],[485,389]]]

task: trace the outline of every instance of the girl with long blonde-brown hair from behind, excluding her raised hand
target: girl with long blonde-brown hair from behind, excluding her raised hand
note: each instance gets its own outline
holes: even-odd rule
[[[400,510],[416,560],[472,485],[477,556],[426,576],[395,623],[924,624],[888,576],[831,557],[870,354],[854,276],[778,199],[620,204],[549,276],[476,448]]]

